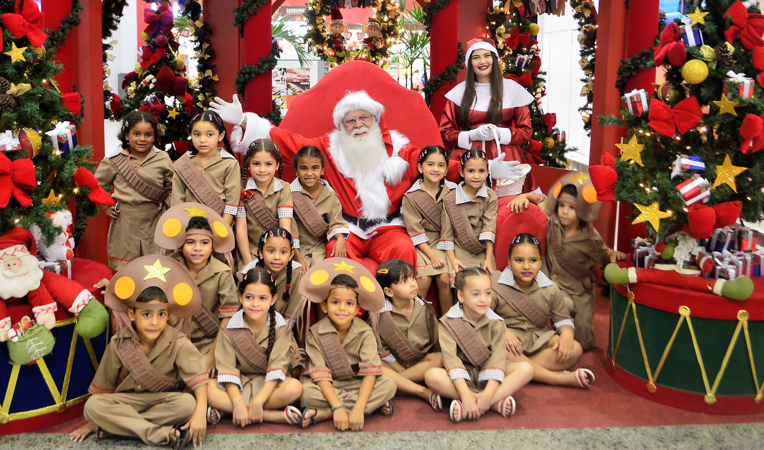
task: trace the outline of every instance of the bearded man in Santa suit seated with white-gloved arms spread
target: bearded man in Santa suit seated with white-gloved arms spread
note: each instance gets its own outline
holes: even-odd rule
[[[348,92],[335,105],[335,130],[322,137],[307,138],[274,127],[254,113],[244,113],[238,97],[228,103],[216,97],[210,104],[222,119],[234,124],[231,145],[245,152],[249,144],[262,138],[274,140],[291,166],[303,146],[317,146],[326,158],[324,178],[335,189],[342,204],[342,216],[350,223],[346,241],[348,257],[371,271],[387,259],[403,259],[416,264],[416,249],[400,217],[400,201],[419,175],[416,161],[420,149],[396,130],[388,130],[384,106],[365,91]],[[494,179],[517,178],[517,161],[503,161],[503,154],[490,162]],[[458,161],[449,174],[458,175]],[[332,256],[334,241],[326,246]],[[364,259],[373,260],[373,262]]]

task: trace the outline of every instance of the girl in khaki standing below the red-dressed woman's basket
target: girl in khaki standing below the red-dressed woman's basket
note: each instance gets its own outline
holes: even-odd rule
[[[498,198],[486,184],[488,160],[482,150],[461,156],[461,183],[443,198],[439,250],[445,250],[456,272],[481,267],[494,272]]]

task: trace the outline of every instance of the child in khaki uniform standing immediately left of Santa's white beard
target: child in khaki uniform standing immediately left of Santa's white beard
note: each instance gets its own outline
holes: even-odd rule
[[[332,239],[337,242],[330,256],[348,256],[345,239],[350,235],[350,227],[342,218],[337,194],[321,178],[324,166],[324,156],[316,146],[304,146],[294,156],[297,178],[290,185],[296,213],[292,221],[294,259],[305,270],[326,259],[326,243]]]

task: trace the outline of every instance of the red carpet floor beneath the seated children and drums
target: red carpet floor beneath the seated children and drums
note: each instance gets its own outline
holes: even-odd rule
[[[555,387],[545,384],[529,384],[515,395],[517,413],[504,419],[489,412],[477,422],[452,423],[448,413],[435,413],[429,404],[410,397],[396,397],[395,414],[384,417],[368,416],[364,431],[435,431],[472,429],[539,429],[539,428],[586,428],[609,426],[669,426],[712,423],[761,423],[764,413],[749,415],[716,415],[694,413],[667,407],[632,394],[620,387],[607,374],[605,352],[608,339],[609,300],[597,295],[595,333],[597,344],[584,353],[577,367],[590,368],[597,378],[589,390],[575,387]],[[70,432],[84,423],[73,420],[41,432]],[[264,424],[236,429],[229,419],[208,432],[332,432],[331,421],[319,423],[309,429],[296,426]]]

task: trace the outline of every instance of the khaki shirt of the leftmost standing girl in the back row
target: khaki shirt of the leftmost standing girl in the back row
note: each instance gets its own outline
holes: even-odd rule
[[[129,158],[133,167],[147,180],[157,183],[157,185],[170,189],[173,187],[173,162],[170,156],[167,156],[166,152],[160,149],[154,148],[154,151],[149,150],[143,161],[138,161],[134,156],[130,156],[128,150],[122,149],[121,151],[115,151],[109,153],[101,160],[98,168],[95,169],[95,178],[98,179],[98,184],[102,187],[112,187],[112,198],[118,201],[120,204],[144,204],[156,202],[149,200],[137,191],[134,191],[128,182],[125,181],[125,177],[119,175],[114,166],[112,166],[112,159],[114,158]]]

